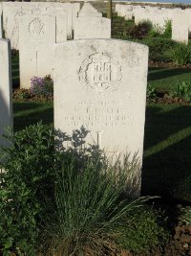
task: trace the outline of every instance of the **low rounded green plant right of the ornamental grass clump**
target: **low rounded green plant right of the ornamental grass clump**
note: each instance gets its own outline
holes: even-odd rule
[[[117,243],[134,253],[143,253],[155,246],[162,249],[170,238],[164,214],[148,206],[129,212],[117,226],[117,232],[120,234]]]

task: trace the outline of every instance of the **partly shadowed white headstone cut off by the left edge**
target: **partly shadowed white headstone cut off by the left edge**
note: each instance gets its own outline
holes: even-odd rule
[[[8,145],[2,135],[12,126],[11,105],[11,45],[0,39],[0,146]]]

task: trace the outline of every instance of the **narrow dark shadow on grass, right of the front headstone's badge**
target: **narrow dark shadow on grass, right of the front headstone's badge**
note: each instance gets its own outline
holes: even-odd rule
[[[191,69],[183,69],[183,68],[149,68],[148,73],[148,81],[155,81],[170,77],[177,77],[182,74],[190,73],[191,76]]]

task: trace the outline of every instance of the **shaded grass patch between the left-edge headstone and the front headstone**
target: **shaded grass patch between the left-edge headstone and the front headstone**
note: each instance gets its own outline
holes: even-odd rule
[[[53,123],[53,103],[14,102],[14,130],[20,130],[43,121],[43,124]]]

